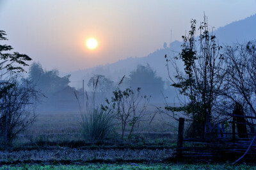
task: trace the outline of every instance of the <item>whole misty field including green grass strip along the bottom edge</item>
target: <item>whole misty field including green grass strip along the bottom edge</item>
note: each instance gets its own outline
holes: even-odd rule
[[[154,110],[148,111],[148,114]],[[234,169],[211,160],[200,164],[175,160],[177,122],[150,116],[136,127],[132,139],[120,140],[120,128],[105,141],[84,141],[79,112],[41,112],[8,150],[0,150],[3,169]],[[163,122],[165,120],[165,122]],[[169,122],[172,126],[166,125]],[[198,164],[198,165],[197,165]],[[236,169],[252,169],[239,165]]]

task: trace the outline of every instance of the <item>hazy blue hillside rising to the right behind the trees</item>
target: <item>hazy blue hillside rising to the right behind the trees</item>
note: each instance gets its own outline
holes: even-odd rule
[[[220,27],[216,29],[214,33],[221,45],[237,42],[243,43],[246,40],[253,40],[256,38],[256,15]],[[117,82],[123,75],[129,76],[129,73],[135,70],[137,65],[146,65],[147,63],[156,70],[157,75],[163,77],[163,80],[165,80],[168,77],[168,72],[165,66],[166,59],[164,59],[164,55],[168,54],[168,56],[173,56],[179,54],[181,44],[182,42],[175,41],[170,44],[170,47],[157,49],[148,54],[148,56],[142,58],[131,57],[108,65],[100,65],[94,68],[71,72],[70,86],[76,88],[81,87],[83,79],[86,82],[85,84],[87,84],[93,74],[106,75],[106,77]],[[172,68],[170,69],[170,73],[172,74],[173,70]]]

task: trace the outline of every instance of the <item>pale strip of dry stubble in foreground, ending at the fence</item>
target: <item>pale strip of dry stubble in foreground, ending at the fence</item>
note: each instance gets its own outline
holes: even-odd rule
[[[96,149],[77,150],[72,148],[58,148],[53,150],[20,150],[0,151],[1,160],[93,160],[93,159],[122,159],[122,160],[161,160],[172,157],[172,149],[163,150],[131,150],[131,149]]]

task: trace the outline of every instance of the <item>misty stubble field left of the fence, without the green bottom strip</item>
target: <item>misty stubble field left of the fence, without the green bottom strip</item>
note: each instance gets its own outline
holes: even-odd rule
[[[97,143],[83,140],[80,118],[79,112],[41,112],[35,123],[22,132],[8,150],[0,150],[0,165],[79,165],[93,162],[138,164],[163,162],[173,157],[175,130],[165,125],[160,116],[156,116],[150,124],[149,120],[140,123],[131,140],[121,141],[120,129],[116,128],[108,139]],[[102,164],[102,168],[104,166]],[[76,168],[79,169],[78,166]]]

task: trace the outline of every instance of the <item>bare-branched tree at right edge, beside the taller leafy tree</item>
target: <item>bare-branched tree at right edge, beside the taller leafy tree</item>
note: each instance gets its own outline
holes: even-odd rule
[[[228,90],[223,95],[231,104],[243,105],[247,116],[256,116],[256,41],[227,46],[225,62],[228,65],[225,76]]]

